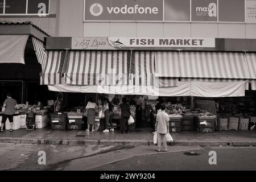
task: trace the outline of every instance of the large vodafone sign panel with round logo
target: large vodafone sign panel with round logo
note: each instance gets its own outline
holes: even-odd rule
[[[85,21],[162,21],[163,0],[84,0]]]

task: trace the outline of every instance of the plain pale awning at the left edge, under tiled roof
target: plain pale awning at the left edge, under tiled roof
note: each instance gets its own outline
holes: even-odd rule
[[[25,64],[28,35],[0,35],[0,63]]]

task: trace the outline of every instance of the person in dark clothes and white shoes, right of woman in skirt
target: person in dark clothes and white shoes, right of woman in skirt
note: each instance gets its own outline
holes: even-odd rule
[[[109,123],[110,123],[110,126],[111,126],[110,131],[114,131],[113,122],[112,122],[113,105],[108,100],[108,98],[105,99],[105,107],[104,107],[103,111],[105,113],[105,122],[106,122],[106,129],[103,132],[105,132],[105,133],[109,132]]]

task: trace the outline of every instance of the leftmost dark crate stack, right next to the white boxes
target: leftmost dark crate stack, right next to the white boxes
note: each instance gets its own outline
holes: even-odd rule
[[[51,114],[52,130],[65,130],[67,123],[66,113],[53,113]]]

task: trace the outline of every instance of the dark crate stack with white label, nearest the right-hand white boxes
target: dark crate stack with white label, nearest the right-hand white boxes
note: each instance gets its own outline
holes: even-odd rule
[[[200,133],[214,133],[215,131],[215,115],[203,115],[196,117],[196,126],[197,131]],[[206,123],[206,125],[202,125],[201,123]]]

